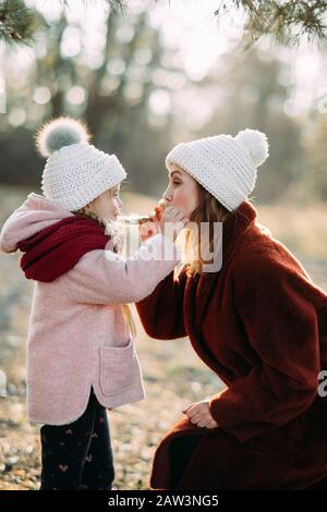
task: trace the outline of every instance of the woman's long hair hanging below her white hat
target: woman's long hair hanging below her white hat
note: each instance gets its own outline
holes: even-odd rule
[[[216,197],[196,182],[197,206],[190,217],[197,230],[185,230],[184,239],[184,263],[186,264],[186,275],[196,276],[203,272],[204,265],[213,263],[206,261],[203,254],[214,253],[214,222],[223,222],[231,212],[222,206]],[[209,239],[206,240],[202,230],[202,222],[209,222]]]

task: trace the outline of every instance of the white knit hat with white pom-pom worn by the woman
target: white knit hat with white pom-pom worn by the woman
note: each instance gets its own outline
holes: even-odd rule
[[[235,137],[216,135],[178,144],[166,158],[189,172],[228,210],[237,209],[254,188],[256,168],[268,154],[267,136],[246,129]]]

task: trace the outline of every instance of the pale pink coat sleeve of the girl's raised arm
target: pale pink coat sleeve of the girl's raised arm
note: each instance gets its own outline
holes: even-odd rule
[[[59,279],[76,302],[132,303],[147,296],[180,258],[178,247],[166,236],[156,234],[126,259],[112,251],[89,251]]]

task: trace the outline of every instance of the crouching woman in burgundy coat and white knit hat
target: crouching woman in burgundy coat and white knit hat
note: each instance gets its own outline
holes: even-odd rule
[[[170,151],[165,199],[193,221],[222,222],[222,266],[199,255],[171,272],[137,310],[146,332],[189,336],[226,383],[190,404],[156,449],[155,489],[304,489],[327,481],[327,294],[256,221],[249,200],[266,136],[245,130]],[[191,227],[186,255],[213,248]],[[204,242],[204,243],[203,243]],[[325,481],[324,481],[325,480]],[[327,486],[326,486],[327,487]]]

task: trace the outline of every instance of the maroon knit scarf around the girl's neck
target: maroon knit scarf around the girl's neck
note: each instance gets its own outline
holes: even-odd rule
[[[27,279],[51,282],[88,251],[105,248],[109,240],[105,227],[96,220],[80,215],[66,217],[17,244],[25,253],[21,268]]]

